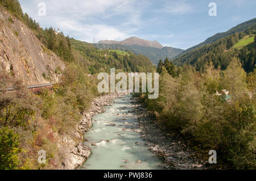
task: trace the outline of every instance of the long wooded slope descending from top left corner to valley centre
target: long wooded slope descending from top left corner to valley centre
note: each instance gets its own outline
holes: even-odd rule
[[[62,32],[56,33],[52,27],[43,30],[39,26],[39,23],[36,23],[26,13],[23,14],[19,2],[16,0],[1,0],[0,3],[15,15],[16,18],[22,20],[23,23],[33,30],[36,37],[38,37],[47,49],[55,52],[64,61],[75,61],[79,62],[80,65],[83,64],[83,67],[88,73],[96,73],[96,70],[99,72],[100,68],[101,70],[109,71],[110,66],[112,68],[122,69],[123,71],[147,71],[147,69],[150,71],[153,68],[147,57],[141,55],[135,56],[131,52],[130,56],[118,56],[118,54],[112,54],[108,51],[97,50],[91,44],[71,39]],[[79,51],[80,56],[78,56],[76,50]]]

